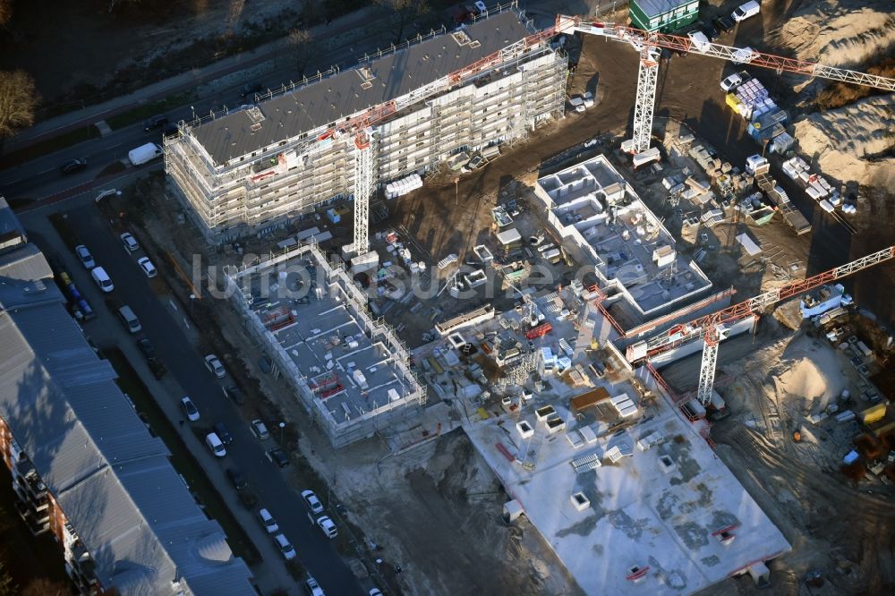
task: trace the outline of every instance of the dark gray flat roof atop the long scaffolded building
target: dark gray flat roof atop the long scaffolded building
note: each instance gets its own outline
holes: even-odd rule
[[[531,33],[513,11],[476,21],[465,31],[478,43],[460,46],[447,33],[371,61],[368,64],[375,78],[368,89],[362,87],[360,69],[353,68],[261,103],[258,107],[264,120],[258,130],[251,130],[252,120],[242,110],[201,124],[192,134],[220,166],[399,98]]]

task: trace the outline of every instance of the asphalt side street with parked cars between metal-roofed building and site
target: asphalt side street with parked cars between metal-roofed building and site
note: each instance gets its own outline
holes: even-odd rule
[[[325,591],[332,594],[363,593],[360,583],[338,554],[333,543],[324,537],[316,525],[311,524],[310,512],[303,500],[289,486],[276,465],[268,461],[265,450],[277,447],[276,431],[267,441],[259,441],[251,434],[248,425],[234,405],[223,395],[221,384],[202,362],[203,354],[197,353],[184,335],[183,329],[172,316],[172,310],[161,302],[149,287],[148,279],[137,265],[143,251],[128,253],[113,232],[106,219],[99,217],[93,206],[73,209],[68,214],[72,230],[90,249],[97,264],[107,270],[115,284],[115,290],[106,294],[116,301],[128,304],[141,321],[145,336],[156,346],[159,357],[169,374],[183,387],[200,411],[200,421],[191,424],[210,425],[224,422],[234,441],[227,446],[227,455],[219,464],[223,468],[235,467],[243,472],[251,490],[259,497],[258,507],[267,507],[277,519],[281,532],[291,541],[298,558],[308,571],[317,578]],[[156,263],[165,267],[165,263]],[[103,308],[102,297],[88,272],[77,269],[71,272],[77,284],[88,287],[95,309]],[[91,322],[86,324],[90,333]],[[223,379],[226,382],[227,379]],[[157,400],[179,404],[181,395],[157,395]],[[185,416],[183,416],[185,419]],[[188,422],[189,423],[189,422]],[[229,485],[218,490],[234,490]]]

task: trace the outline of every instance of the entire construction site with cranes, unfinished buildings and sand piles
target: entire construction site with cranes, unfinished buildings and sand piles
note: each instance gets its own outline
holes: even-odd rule
[[[796,88],[895,80],[626,18],[506,4],[188,123],[145,226],[224,268],[220,333],[395,592],[886,592],[891,189],[799,146]]]

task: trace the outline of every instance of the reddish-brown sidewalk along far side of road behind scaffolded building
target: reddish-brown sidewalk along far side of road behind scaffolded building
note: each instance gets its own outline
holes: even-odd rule
[[[322,35],[338,35],[354,30],[361,25],[369,24],[375,10],[373,7],[362,8],[354,13],[339,17],[329,25],[320,24],[311,27],[311,32],[316,38]],[[286,43],[285,38],[277,39],[277,41],[256,47],[249,52],[232,55],[203,68],[192,69],[170,79],[152,83],[120,98],[110,99],[95,106],[88,106],[37,123],[6,140],[4,153],[12,153],[18,149],[29,147],[40,140],[46,140],[55,135],[88,126],[109,116],[126,112],[133,107],[166,98],[173,93],[193,89],[201,83],[214,81],[232,72],[251,68],[251,66],[273,59],[277,51],[285,47]]]

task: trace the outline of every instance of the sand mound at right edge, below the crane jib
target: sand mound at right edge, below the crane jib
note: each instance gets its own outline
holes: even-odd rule
[[[895,142],[895,95],[808,115],[795,126],[799,148],[823,175],[895,188],[895,158],[875,158]]]

